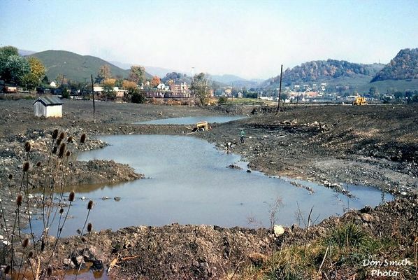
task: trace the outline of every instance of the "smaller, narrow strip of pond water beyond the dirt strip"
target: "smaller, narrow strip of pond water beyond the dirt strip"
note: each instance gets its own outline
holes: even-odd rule
[[[160,120],[146,120],[136,124],[147,125],[193,125],[201,121],[208,123],[226,123],[231,120],[240,120],[247,118],[245,116],[197,116],[197,117],[183,117],[183,118],[163,118]]]

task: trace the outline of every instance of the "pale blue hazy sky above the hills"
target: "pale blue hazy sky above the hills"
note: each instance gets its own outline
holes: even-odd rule
[[[269,78],[319,59],[418,48],[418,1],[0,0],[0,46]]]

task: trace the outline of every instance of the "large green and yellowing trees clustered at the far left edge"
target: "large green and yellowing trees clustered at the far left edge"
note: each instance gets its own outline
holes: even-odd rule
[[[41,84],[45,66],[36,57],[21,57],[17,48],[0,48],[0,78],[6,83],[21,85],[28,90]]]

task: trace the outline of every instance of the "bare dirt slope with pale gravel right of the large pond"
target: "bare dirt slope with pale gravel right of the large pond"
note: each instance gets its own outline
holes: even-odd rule
[[[418,190],[418,106],[310,106],[215,125],[199,137],[243,155],[252,169],[339,188]],[[245,144],[239,134],[246,133]]]

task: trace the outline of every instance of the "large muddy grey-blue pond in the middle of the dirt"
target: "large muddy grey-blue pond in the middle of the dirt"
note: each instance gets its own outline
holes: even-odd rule
[[[124,135],[100,139],[110,145],[80,153],[78,160],[115,160],[145,174],[145,179],[116,185],[78,186],[63,235],[75,235],[82,228],[88,200],[94,201],[89,215],[94,229],[117,230],[130,225],[171,223],[268,227],[277,200],[281,204],[276,223],[297,223],[298,207],[305,217],[313,207],[312,217],[319,222],[343,214],[347,207],[359,209],[366,204],[374,207],[382,200],[393,199],[374,188],[344,186],[356,197],[348,198],[315,183],[296,181],[312,188],[314,193],[310,193],[292,185],[291,181],[295,180],[247,172],[239,155],[226,154],[194,137]],[[234,163],[243,169],[227,168]],[[103,200],[105,197],[108,199]],[[41,222],[34,223],[37,231],[40,230]]]

